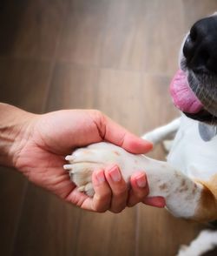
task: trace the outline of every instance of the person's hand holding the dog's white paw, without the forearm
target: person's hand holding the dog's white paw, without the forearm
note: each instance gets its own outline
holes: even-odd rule
[[[62,169],[62,165],[65,164],[64,157],[76,147],[101,141],[122,146],[132,153],[148,152],[152,147],[101,112],[69,110],[43,115],[25,112],[20,129],[13,146],[14,166],[30,181],[56,193],[62,199],[96,212],[121,212],[126,205],[132,206],[140,201],[164,206],[161,198],[144,199],[148,195],[148,183],[142,173],[132,176],[132,188],[128,192],[117,166],[93,173],[93,199],[79,192],[69,180],[69,174]],[[112,179],[114,173],[120,175],[118,182]],[[99,180],[102,182],[97,182]]]

